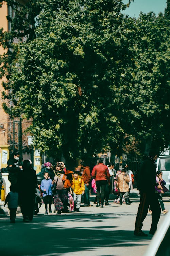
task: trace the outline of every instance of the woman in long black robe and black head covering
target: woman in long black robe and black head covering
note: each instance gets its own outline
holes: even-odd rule
[[[22,169],[19,176],[19,201],[23,221],[30,222],[33,219],[37,175],[30,160],[23,161]]]

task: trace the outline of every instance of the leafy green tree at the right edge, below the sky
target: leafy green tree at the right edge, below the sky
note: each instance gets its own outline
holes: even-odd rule
[[[169,25],[162,13],[157,17],[141,13],[136,20],[136,68],[128,117],[131,134],[146,153],[153,145],[163,150],[170,142]]]

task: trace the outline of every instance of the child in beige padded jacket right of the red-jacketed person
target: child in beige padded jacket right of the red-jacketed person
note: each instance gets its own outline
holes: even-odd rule
[[[125,169],[122,169],[121,174],[117,176],[116,183],[119,187],[120,191],[120,205],[122,205],[122,197],[124,195],[126,205],[129,205],[129,182],[130,182],[130,177],[126,173]]]

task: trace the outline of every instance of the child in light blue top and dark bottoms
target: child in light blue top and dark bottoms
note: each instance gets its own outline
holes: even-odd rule
[[[51,203],[52,203],[52,187],[54,185],[54,182],[49,179],[48,172],[44,173],[44,179],[41,182],[41,190],[43,191],[43,202],[45,204],[46,212],[44,215],[48,215],[47,211],[47,204],[49,201],[49,213],[52,213],[51,211]]]

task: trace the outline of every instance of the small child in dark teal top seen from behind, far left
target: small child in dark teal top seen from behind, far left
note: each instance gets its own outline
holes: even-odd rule
[[[4,204],[5,206],[8,203],[8,208],[10,210],[10,223],[15,223],[16,212],[18,207],[18,192],[16,192],[16,190],[16,186],[14,184],[11,184],[11,192],[7,194]]]

